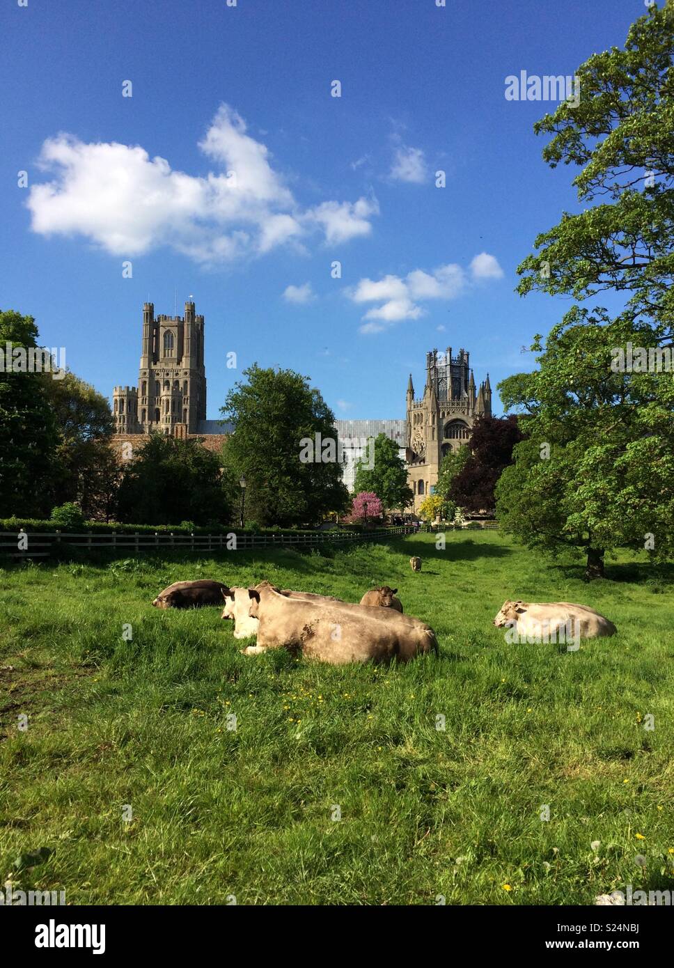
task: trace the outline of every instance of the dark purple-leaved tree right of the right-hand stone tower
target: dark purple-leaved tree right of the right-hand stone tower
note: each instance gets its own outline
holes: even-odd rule
[[[516,416],[479,417],[471,436],[470,456],[453,478],[449,498],[465,511],[493,511],[496,483],[512,463],[512,448],[521,439]]]

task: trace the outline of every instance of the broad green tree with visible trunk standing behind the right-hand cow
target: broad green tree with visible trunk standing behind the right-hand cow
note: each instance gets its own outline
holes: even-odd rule
[[[539,368],[499,384],[526,439],[497,485],[497,517],[529,547],[584,552],[589,579],[617,547],[656,561],[674,550],[674,382],[612,369],[628,342],[655,348],[658,336],[628,313],[574,307],[538,347]]]

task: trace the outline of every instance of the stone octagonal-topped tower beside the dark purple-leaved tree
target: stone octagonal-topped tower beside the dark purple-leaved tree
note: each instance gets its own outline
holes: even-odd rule
[[[476,391],[467,350],[459,349],[457,356],[451,347],[426,353],[423,397],[414,400],[412,376],[407,389],[408,484],[414,491],[414,512],[433,493],[444,455],[468,443],[482,414],[491,416],[489,375]]]

